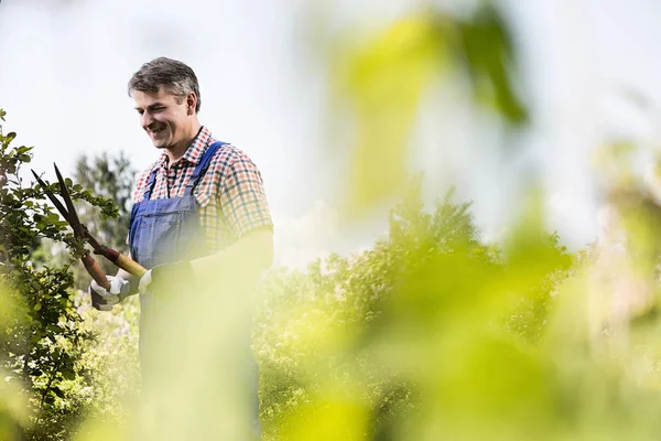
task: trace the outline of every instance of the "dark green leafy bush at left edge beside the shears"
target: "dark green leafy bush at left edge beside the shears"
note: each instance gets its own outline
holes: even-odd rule
[[[6,112],[0,110],[4,120]],[[71,385],[86,377],[82,361],[93,333],[83,326],[74,302],[74,279],[69,266],[82,256],[83,244],[67,229],[67,223],[45,202],[44,189],[24,185],[22,165],[31,161],[31,147],[14,147],[14,132],[0,131],[0,283],[4,287],[11,314],[2,326],[0,367],[3,378],[15,385],[29,405],[22,420],[28,439],[66,439],[84,416],[84,406],[72,395]],[[66,180],[74,198],[117,215],[111,201]],[[57,184],[50,190],[58,193]],[[67,265],[52,267],[34,261],[42,239],[65,244],[72,250]]]

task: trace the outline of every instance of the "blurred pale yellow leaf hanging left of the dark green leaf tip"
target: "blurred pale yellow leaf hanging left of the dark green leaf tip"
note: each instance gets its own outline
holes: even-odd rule
[[[421,15],[347,54],[345,87],[358,120],[350,208],[398,193],[405,182],[407,138],[422,93],[446,63],[445,52],[433,15]]]

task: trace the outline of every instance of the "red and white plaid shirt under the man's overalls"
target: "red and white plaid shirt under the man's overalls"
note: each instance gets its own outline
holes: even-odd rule
[[[161,158],[138,178],[133,203],[141,202],[153,170],[156,182],[152,200],[182,197],[195,166],[216,140],[203,127],[186,153],[169,169],[169,158]],[[273,228],[261,174],[246,153],[225,144],[214,154],[193,195],[197,200],[199,220],[210,252],[218,251],[259,227]]]

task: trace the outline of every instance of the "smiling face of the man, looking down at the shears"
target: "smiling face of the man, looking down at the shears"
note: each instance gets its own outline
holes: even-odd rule
[[[159,149],[174,147],[186,139],[192,123],[188,99],[178,98],[161,86],[158,93],[133,92],[140,125]]]

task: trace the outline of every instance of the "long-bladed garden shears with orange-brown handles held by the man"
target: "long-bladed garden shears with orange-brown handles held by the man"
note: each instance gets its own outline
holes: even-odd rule
[[[51,200],[53,205],[55,205],[55,207],[57,208],[59,214],[62,214],[62,216],[65,218],[65,220],[68,222],[72,229],[74,230],[74,235],[76,237],[89,243],[89,245],[91,245],[91,247],[94,248],[95,255],[104,256],[106,259],[110,260],[117,267],[123,269],[124,271],[127,271],[138,278],[142,277],[147,272],[147,269],[144,267],[142,267],[140,263],[138,263],[130,257],[127,257],[127,256],[122,255],[121,252],[116,251],[112,248],[109,248],[102,244],[99,244],[99,241],[89,233],[87,227],[85,225],[80,224],[80,219],[78,218],[78,215],[76,214],[76,208],[74,207],[74,203],[72,202],[72,197],[68,193],[68,190],[66,187],[64,179],[62,178],[62,174],[59,173],[57,165],[55,163],[53,163],[53,165],[55,166],[55,174],[57,174],[57,181],[59,181],[59,195],[64,200],[66,207],[48,190],[48,185],[46,183],[44,183],[44,181],[42,181],[41,178],[39,178],[39,175],[34,172],[34,170],[31,170],[31,171],[32,171],[32,174],[34,175],[34,178],[36,179],[36,182],[39,182],[39,184],[42,186],[42,189],[44,189],[44,193],[46,193],[46,196],[48,196],[48,198]],[[94,280],[96,280],[96,282],[99,284],[99,287],[104,287],[105,289],[110,289],[110,282],[108,281],[108,279],[106,279],[106,273],[104,272],[104,270],[101,269],[99,263],[96,261],[94,256],[91,256],[89,254],[88,250],[85,250],[85,251],[86,251],[85,256],[82,258],[82,260],[83,260],[83,265],[85,266],[85,269],[87,270],[87,272],[89,272],[89,276],[91,276],[91,278]]]

